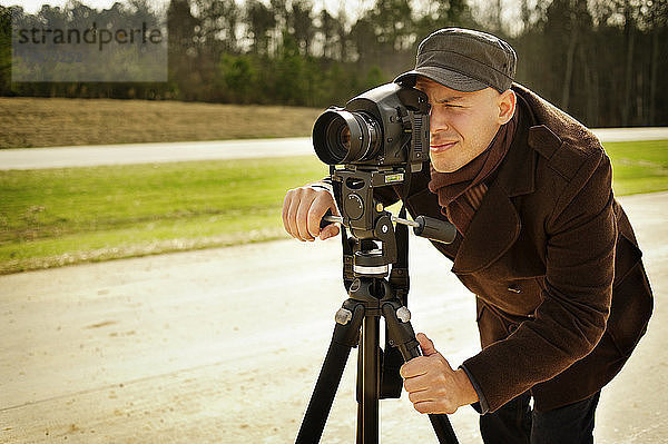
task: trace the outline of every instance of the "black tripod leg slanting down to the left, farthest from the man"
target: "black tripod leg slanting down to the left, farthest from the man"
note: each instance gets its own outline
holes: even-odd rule
[[[357,345],[363,318],[364,306],[352,299],[344,302],[336,313],[332,342],[304,414],[296,444],[320,442],[351,348]]]

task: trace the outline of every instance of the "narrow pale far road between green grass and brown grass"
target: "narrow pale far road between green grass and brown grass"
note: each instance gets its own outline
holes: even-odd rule
[[[602,141],[668,139],[668,128],[602,128],[595,132]],[[313,156],[311,139],[3,149],[0,150],[0,170],[283,156]]]

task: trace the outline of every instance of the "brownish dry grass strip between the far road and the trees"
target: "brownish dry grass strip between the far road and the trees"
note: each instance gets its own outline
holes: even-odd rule
[[[224,140],[311,135],[320,109],[0,97],[0,148]]]

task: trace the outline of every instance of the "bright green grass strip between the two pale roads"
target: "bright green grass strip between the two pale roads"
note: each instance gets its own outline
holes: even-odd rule
[[[668,140],[606,144],[616,194],[668,189]],[[315,156],[0,171],[0,274],[286,237]]]

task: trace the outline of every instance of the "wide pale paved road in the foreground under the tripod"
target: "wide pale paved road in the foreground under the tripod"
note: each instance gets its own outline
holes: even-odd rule
[[[622,205],[656,309],[603,391],[597,443],[665,443],[668,193]],[[413,325],[456,366],[478,349],[473,296],[411,241]],[[284,240],[0,276],[0,443],[293,442],[344,299],[340,260],[336,240]],[[354,442],[353,381],[351,359],[323,443]],[[477,421],[452,416],[460,443],[480,443]],[[436,442],[405,395],[381,403],[381,425],[384,443]]]

